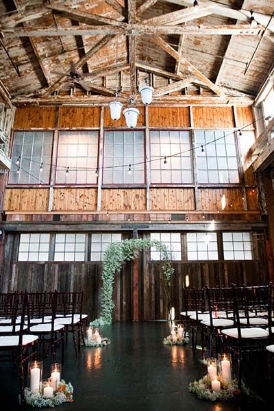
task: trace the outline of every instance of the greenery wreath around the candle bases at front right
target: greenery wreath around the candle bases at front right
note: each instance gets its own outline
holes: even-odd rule
[[[221,391],[212,391],[211,382],[208,375],[204,375],[199,381],[190,382],[190,393],[197,395],[199,399],[206,399],[208,401],[229,401],[240,395],[238,382],[232,379],[232,382],[221,382]]]

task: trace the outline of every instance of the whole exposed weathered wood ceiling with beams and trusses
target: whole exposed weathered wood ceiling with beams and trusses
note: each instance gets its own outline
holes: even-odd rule
[[[273,0],[199,0],[197,12],[192,5],[0,0],[1,82],[15,104],[108,103],[116,87],[138,103],[147,75],[158,103],[251,103],[273,66]],[[68,74],[71,62],[88,92],[55,73]]]

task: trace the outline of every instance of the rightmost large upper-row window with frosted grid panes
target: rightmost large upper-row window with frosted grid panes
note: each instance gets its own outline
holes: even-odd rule
[[[198,146],[196,153],[199,183],[238,183],[238,159],[234,134],[211,131],[197,131],[195,134]],[[203,150],[199,149],[199,146],[203,146]]]

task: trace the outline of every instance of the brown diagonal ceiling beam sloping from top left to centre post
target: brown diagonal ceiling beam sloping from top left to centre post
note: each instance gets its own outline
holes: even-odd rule
[[[81,23],[86,24],[106,24],[106,25],[113,25],[116,27],[124,27],[126,28],[126,23],[122,21],[114,20],[114,18],[101,16],[100,14],[93,14],[90,12],[80,12],[79,10],[75,11],[75,9],[64,7],[62,5],[46,5],[47,8],[53,10],[55,13],[62,14],[62,16],[69,18],[70,20],[76,20]]]

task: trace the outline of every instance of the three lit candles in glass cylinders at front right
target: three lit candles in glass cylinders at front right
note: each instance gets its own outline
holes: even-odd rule
[[[221,382],[232,382],[231,362],[229,354],[219,354],[216,358],[207,358],[208,379],[211,382],[212,391],[221,391]]]

